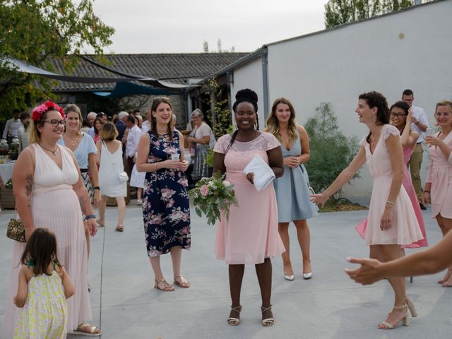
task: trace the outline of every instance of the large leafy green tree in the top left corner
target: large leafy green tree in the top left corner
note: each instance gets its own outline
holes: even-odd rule
[[[103,48],[112,43],[114,29],[95,16],[93,1],[1,1],[0,116],[52,97],[52,81],[16,71],[8,57],[49,71],[55,71],[49,60],[64,58],[63,71],[70,72],[78,58],[66,54],[83,53],[88,48],[102,54]]]

